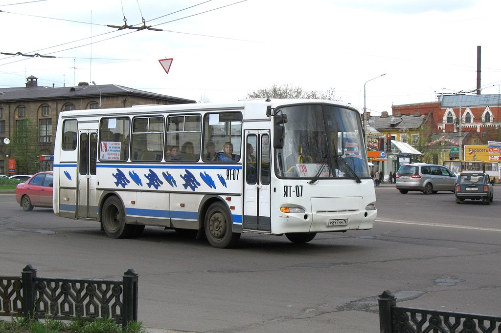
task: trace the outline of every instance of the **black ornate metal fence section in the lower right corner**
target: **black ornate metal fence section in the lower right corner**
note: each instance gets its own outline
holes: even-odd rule
[[[493,333],[501,332],[501,317],[436,311],[396,305],[389,290],[379,295],[381,333]]]

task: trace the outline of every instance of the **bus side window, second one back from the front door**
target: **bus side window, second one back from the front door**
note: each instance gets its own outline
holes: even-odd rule
[[[200,157],[201,116],[176,115],[167,118],[165,159],[197,161]]]

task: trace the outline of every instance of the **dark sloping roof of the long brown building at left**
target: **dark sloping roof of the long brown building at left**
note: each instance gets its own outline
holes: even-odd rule
[[[79,85],[72,87],[48,87],[48,86],[31,86],[31,87],[14,87],[0,88],[0,102],[13,100],[33,100],[33,99],[54,99],[54,98],[69,98],[69,97],[88,97],[88,96],[110,96],[110,95],[140,95],[151,98],[170,99],[183,103],[194,103],[195,100],[162,95],[134,88],[125,87],[117,84],[101,84],[101,85]]]

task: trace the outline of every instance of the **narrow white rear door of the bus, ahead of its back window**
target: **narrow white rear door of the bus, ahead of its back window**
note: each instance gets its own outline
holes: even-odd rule
[[[77,217],[97,217],[97,132],[79,130],[77,172]]]

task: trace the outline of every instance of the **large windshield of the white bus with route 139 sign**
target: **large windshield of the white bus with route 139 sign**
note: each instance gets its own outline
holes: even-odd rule
[[[368,178],[360,114],[327,104],[279,108],[287,115],[284,147],[277,149],[282,178]]]

